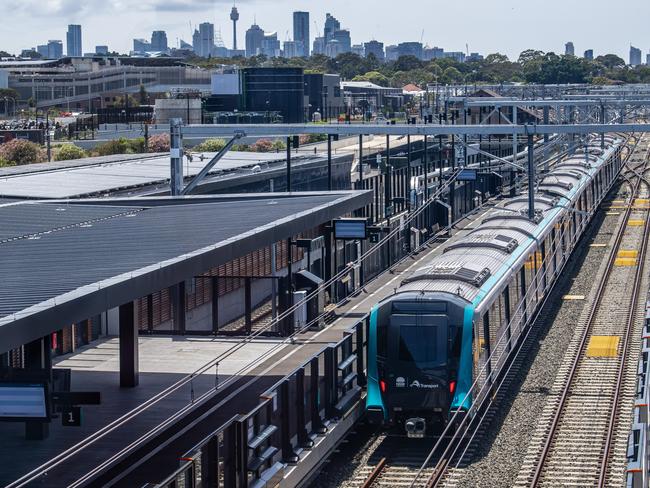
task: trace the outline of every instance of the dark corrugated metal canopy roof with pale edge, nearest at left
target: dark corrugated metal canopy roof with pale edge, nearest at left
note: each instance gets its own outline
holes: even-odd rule
[[[371,199],[340,191],[0,205],[0,353]]]

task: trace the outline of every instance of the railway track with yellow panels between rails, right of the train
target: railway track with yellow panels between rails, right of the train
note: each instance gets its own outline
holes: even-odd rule
[[[650,235],[648,139],[623,177],[628,198],[602,280],[576,324],[515,486],[622,486],[643,326]]]

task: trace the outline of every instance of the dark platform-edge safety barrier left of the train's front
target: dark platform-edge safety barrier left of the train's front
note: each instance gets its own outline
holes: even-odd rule
[[[260,396],[260,403],[219,427],[180,458],[158,488],[276,486],[319,436],[361,399],[369,321],[323,347]]]

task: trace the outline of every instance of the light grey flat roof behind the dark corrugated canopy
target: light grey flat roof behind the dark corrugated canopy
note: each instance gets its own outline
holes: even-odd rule
[[[183,161],[184,176],[193,176],[206,165],[214,153],[204,153],[201,161],[194,156],[193,161]],[[295,162],[324,159],[322,154],[296,155]],[[210,175],[232,172],[242,168],[285,161],[286,155],[280,153],[229,152],[219,161]],[[292,158],[293,159],[293,158]],[[119,162],[95,163],[77,167],[62,166],[53,171],[40,171],[27,174],[3,174],[0,171],[0,197],[63,199],[95,196],[107,192],[133,188],[169,180],[169,155],[157,158],[143,156]],[[22,168],[22,167],[21,167]]]

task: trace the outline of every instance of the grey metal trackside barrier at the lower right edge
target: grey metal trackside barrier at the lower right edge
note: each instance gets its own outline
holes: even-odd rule
[[[628,488],[650,486],[650,301],[646,302],[641,355],[637,366],[632,430],[627,441]]]

